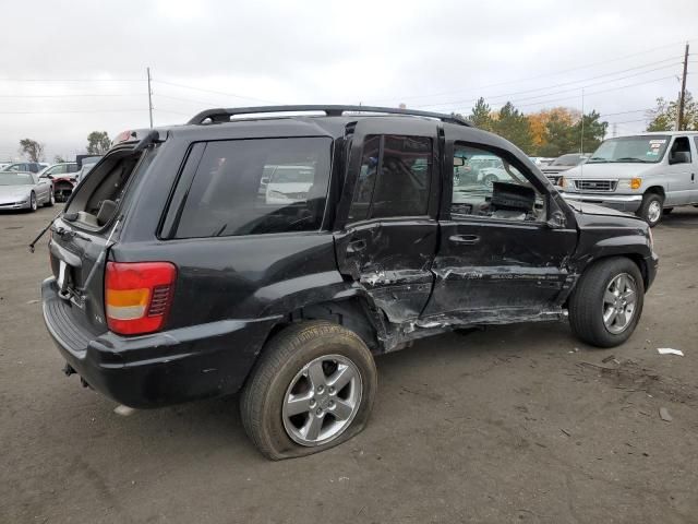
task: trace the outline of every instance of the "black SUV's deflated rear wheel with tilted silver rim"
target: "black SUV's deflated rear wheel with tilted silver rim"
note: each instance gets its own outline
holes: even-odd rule
[[[377,389],[373,356],[352,331],[303,322],[265,347],[240,400],[242,425],[270,460],[310,455],[359,433]]]

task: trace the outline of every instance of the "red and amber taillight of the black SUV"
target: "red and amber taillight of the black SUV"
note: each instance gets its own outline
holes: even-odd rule
[[[165,325],[177,269],[170,262],[107,262],[107,325],[122,335],[142,335]]]

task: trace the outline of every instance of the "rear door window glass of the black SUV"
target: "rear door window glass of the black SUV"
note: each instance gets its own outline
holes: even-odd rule
[[[349,221],[425,215],[432,140],[395,134],[368,136]]]

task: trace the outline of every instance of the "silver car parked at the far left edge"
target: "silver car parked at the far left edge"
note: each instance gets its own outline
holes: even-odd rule
[[[36,211],[39,205],[53,205],[53,184],[35,172],[0,171],[0,210]]]

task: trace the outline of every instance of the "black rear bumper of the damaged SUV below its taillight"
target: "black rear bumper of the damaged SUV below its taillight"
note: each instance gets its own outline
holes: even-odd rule
[[[278,317],[222,320],[151,335],[96,333],[76,306],[41,284],[44,321],[68,364],[106,396],[157,407],[237,392]]]

